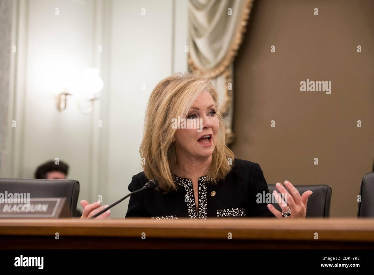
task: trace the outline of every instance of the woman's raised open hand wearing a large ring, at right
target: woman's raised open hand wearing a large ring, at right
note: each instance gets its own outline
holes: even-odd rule
[[[291,215],[288,218],[304,219],[306,216],[306,204],[308,202],[309,196],[312,195],[313,192],[310,190],[307,190],[303,193],[303,195],[300,196],[300,193],[288,180],[286,180],[284,184],[289,190],[289,192],[283,187],[282,184],[280,183],[275,184],[275,187],[277,187],[277,189],[280,192],[278,193],[276,190],[274,190],[273,192],[276,202],[282,208],[283,212],[286,212],[289,209],[291,209]],[[286,202],[283,201],[281,194],[285,198]],[[285,217],[282,217],[282,212],[279,212],[278,210],[276,210],[276,208],[273,207],[272,204],[268,204],[267,208],[269,208],[269,210],[272,211],[272,213],[278,219],[285,218]]]

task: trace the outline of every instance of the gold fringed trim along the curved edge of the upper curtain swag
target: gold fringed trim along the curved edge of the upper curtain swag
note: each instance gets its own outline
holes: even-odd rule
[[[242,17],[240,19],[240,26],[236,30],[234,39],[225,57],[214,68],[211,68],[209,70],[204,70],[202,68],[199,68],[199,66],[195,64],[195,62],[191,58],[191,55],[188,53],[188,67],[193,73],[201,73],[207,77],[215,78],[219,76],[227,68],[227,66],[231,64],[231,62],[234,61],[234,58],[237,55],[237,52],[239,50],[240,44],[243,42],[243,37],[246,32],[246,26],[248,24],[249,13],[251,12],[252,4],[254,0],[245,0],[245,1],[246,1],[246,4],[245,4],[244,12],[242,13]]]

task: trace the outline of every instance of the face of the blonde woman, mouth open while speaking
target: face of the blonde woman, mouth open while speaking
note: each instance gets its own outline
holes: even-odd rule
[[[199,128],[178,128],[175,132],[173,142],[178,148],[178,156],[207,158],[213,154],[219,128],[216,111],[211,95],[206,91],[202,92],[187,113],[187,119],[196,119]],[[199,125],[200,119],[202,125]]]

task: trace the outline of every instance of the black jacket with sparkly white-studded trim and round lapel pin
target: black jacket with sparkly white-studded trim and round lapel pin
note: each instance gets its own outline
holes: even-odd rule
[[[260,165],[234,159],[233,168],[216,185],[206,177],[199,178],[199,211],[196,213],[190,180],[174,176],[178,190],[167,194],[145,190],[130,197],[126,217],[152,219],[206,219],[206,217],[274,217],[266,203],[258,203],[258,195],[269,193]],[[147,183],[143,172],[132,177],[128,189],[138,190]]]

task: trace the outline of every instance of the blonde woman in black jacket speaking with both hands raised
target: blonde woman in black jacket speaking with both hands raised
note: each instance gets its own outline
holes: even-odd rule
[[[130,197],[126,217],[206,219],[207,217],[304,218],[312,191],[302,196],[285,181],[274,193],[282,213],[260,197],[269,193],[260,165],[234,159],[226,146],[218,95],[204,77],[190,73],[166,77],[154,88],[145,114],[140,146],[144,172],[132,177],[133,192],[150,179],[155,190]],[[187,123],[186,123],[187,121]],[[193,122],[193,123],[192,123]],[[82,219],[105,208],[81,202]],[[98,218],[106,218],[108,213]]]

